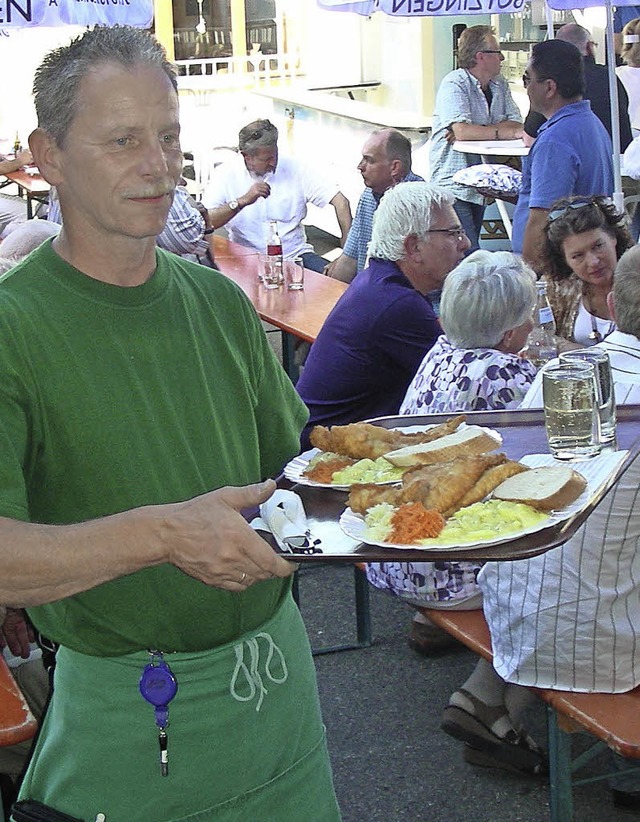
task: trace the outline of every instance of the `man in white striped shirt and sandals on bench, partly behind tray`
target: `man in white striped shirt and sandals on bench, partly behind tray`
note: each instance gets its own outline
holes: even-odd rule
[[[612,358],[616,395],[638,403],[640,246],[620,258],[609,307],[618,330],[600,346]],[[479,661],[443,723],[466,743],[468,762],[524,772],[543,766],[520,724],[530,687],[622,693],[640,684],[639,547],[640,457],[564,545],[485,564],[478,584],[493,667]],[[618,774],[610,784],[616,806],[640,807],[637,774]]]

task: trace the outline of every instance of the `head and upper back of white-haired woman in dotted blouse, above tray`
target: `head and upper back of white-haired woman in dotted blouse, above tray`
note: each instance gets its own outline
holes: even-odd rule
[[[533,327],[535,274],[515,254],[476,251],[445,280],[444,335],[426,354],[401,414],[516,408],[536,376],[519,357]]]

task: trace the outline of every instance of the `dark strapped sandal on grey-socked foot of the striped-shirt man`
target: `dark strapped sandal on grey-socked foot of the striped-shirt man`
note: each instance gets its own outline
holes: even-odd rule
[[[455,702],[470,705],[470,710]],[[547,767],[544,751],[526,731],[513,727],[504,705],[490,706],[464,688],[457,690],[442,715],[442,730],[521,773],[540,774]]]

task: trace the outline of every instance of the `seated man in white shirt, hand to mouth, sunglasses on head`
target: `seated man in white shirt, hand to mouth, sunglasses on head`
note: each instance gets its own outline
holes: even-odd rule
[[[238,149],[237,157],[216,169],[202,198],[211,225],[226,225],[230,240],[263,252],[275,221],[285,258],[302,257],[305,268],[322,272],[327,261],[307,242],[302,224],[307,203],[334,207],[344,242],[351,227],[347,198],[306,164],[279,157],[278,129],[269,120],[240,129]]]

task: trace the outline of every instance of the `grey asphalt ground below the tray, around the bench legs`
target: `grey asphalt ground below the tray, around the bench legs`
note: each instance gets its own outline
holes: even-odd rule
[[[353,574],[348,567],[305,566],[300,606],[312,645],[355,636]],[[410,610],[372,589],[375,643],[371,648],[316,656],[316,668],[344,822],[546,822],[546,780],[474,768],[461,744],[439,730],[451,691],[468,676],[466,649],[427,659],[407,645]],[[528,716],[546,739],[545,713]],[[588,737],[575,738],[576,750]],[[585,775],[606,769],[606,753]],[[606,782],[576,787],[576,822],[624,822]]]

